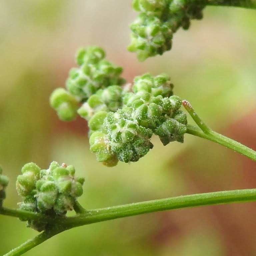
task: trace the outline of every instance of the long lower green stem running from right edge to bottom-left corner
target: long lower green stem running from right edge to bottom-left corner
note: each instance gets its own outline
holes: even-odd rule
[[[95,210],[87,210],[82,214],[77,214],[68,218],[55,220],[55,226],[51,230],[44,231],[34,239],[28,240],[16,249],[4,256],[19,256],[33,247],[41,244],[45,240],[65,230],[123,217],[129,217],[144,213],[181,209],[187,207],[197,207],[203,205],[228,204],[234,202],[256,201],[256,189],[242,189],[231,191],[219,191],[203,194],[170,197],[139,203],[119,205]]]

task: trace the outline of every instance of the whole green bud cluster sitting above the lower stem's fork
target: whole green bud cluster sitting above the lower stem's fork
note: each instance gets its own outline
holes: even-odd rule
[[[83,194],[84,178],[75,177],[73,165],[52,162],[47,170],[35,163],[25,164],[17,177],[16,189],[23,201],[22,210],[46,215],[65,215],[72,210],[77,197]],[[45,223],[29,221],[28,226],[41,231]]]

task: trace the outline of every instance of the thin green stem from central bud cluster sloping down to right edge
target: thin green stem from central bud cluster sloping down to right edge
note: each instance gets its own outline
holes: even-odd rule
[[[241,155],[247,156],[253,161],[256,161],[256,151],[217,132],[211,131],[210,133],[204,133],[195,126],[187,125],[187,133],[216,142],[222,146],[240,153]]]

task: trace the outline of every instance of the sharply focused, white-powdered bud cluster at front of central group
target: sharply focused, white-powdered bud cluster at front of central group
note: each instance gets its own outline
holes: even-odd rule
[[[122,109],[99,111],[88,123],[90,150],[107,166],[138,161],[153,148],[153,134],[164,145],[183,142],[187,117],[180,110],[181,99],[172,95],[170,78],[144,74],[135,77],[132,89],[123,93]]]

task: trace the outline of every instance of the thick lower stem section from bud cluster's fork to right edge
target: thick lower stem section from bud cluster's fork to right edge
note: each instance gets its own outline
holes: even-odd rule
[[[203,205],[228,204],[242,201],[255,201],[256,189],[219,191],[203,194],[170,197],[139,203],[119,205],[102,209],[88,210],[87,213],[69,217],[65,221],[70,229],[86,224],[129,217],[144,213],[166,211]]]

